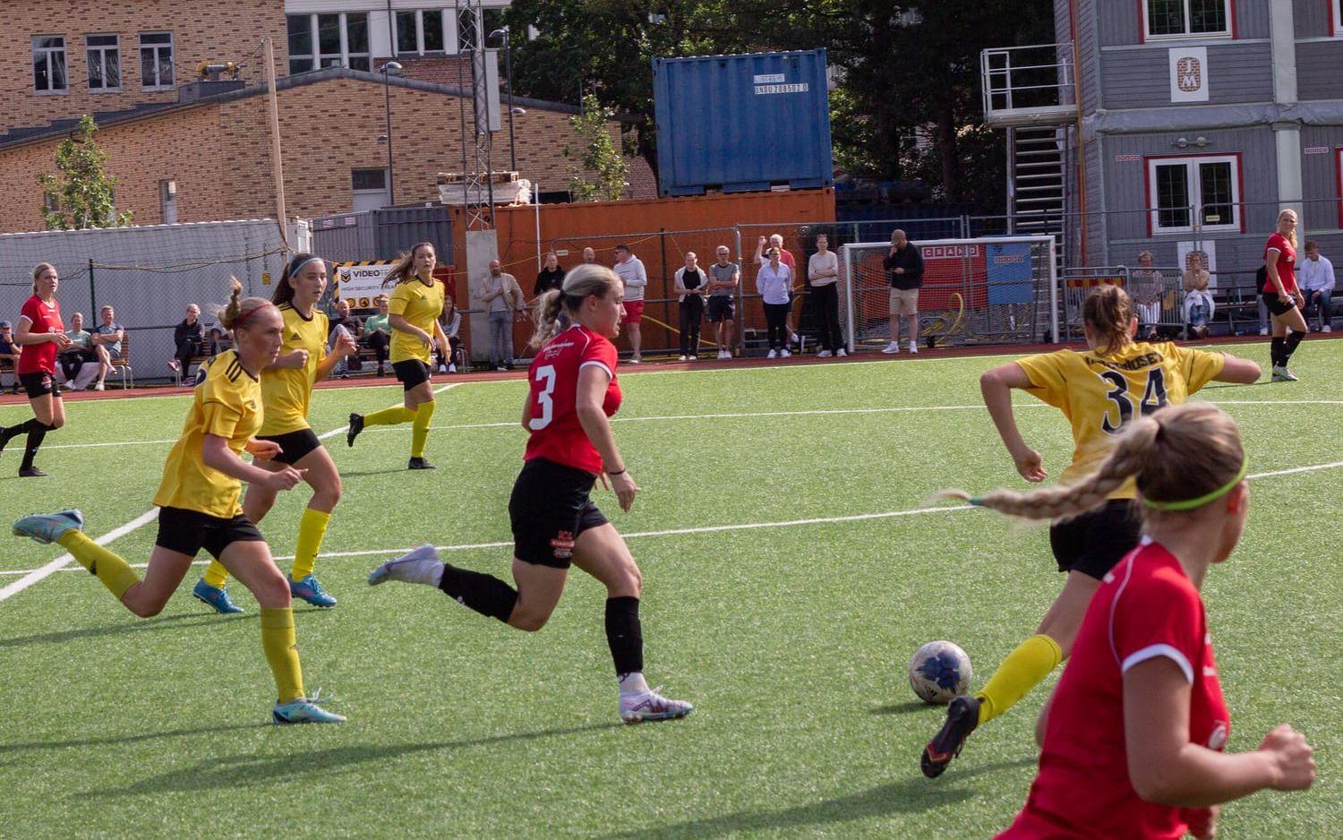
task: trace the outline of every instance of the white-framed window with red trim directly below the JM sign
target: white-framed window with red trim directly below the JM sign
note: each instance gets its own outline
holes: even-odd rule
[[[1150,157],[1147,187],[1155,234],[1242,230],[1240,155]]]

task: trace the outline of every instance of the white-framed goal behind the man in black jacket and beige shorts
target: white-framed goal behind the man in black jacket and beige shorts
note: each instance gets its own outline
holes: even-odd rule
[[[1053,237],[912,241],[924,261],[919,340],[927,345],[1058,341],[1058,282]],[[849,351],[890,336],[890,282],[882,265],[890,242],[839,249],[839,306]],[[901,325],[908,341],[908,323]]]

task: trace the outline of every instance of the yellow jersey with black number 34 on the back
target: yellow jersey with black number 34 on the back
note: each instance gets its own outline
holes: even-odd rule
[[[1116,353],[1060,349],[1017,364],[1030,379],[1027,392],[1062,410],[1073,426],[1073,462],[1060,477],[1070,484],[1100,468],[1124,426],[1187,401],[1222,372],[1226,356],[1170,341],[1138,341]],[[1109,497],[1132,499],[1133,493],[1129,480]]]

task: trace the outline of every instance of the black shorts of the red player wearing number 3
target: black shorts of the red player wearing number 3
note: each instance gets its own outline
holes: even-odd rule
[[[522,466],[508,515],[513,523],[513,556],[536,566],[568,569],[579,534],[606,524],[590,493],[596,476],[545,458]]]

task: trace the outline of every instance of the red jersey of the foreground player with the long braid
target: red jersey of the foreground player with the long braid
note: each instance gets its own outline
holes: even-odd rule
[[[1193,685],[1190,743],[1221,750],[1230,715],[1203,601],[1179,560],[1143,543],[1107,575],[1054,694],[1026,806],[999,840],[1182,837],[1185,809],[1138,797],[1124,743],[1124,672],[1164,656]]]

